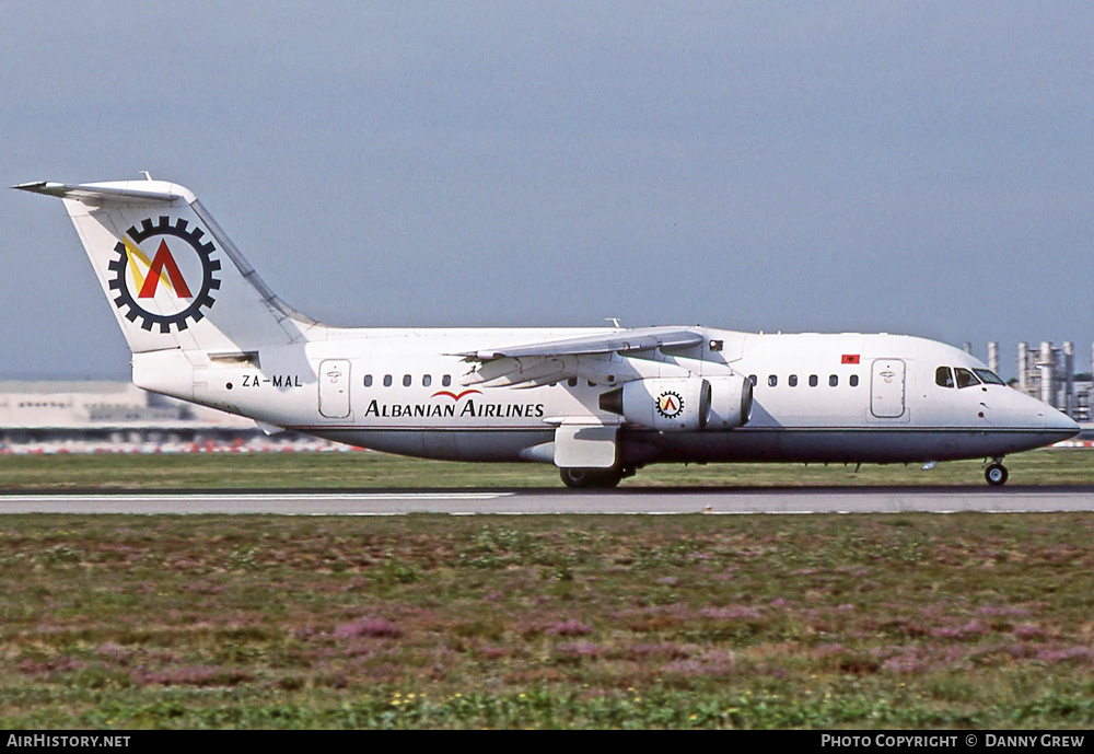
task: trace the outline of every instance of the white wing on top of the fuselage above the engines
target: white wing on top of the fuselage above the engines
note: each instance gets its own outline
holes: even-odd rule
[[[641,359],[633,357],[655,349],[695,348],[705,340],[699,329],[637,327],[579,338],[501,345],[455,356],[479,362],[461,380],[466,385],[535,387],[570,378],[614,385],[645,376],[648,370],[637,363]]]

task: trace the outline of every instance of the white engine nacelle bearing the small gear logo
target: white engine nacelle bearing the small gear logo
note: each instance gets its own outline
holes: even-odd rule
[[[666,432],[695,432],[710,416],[710,383],[698,376],[650,378],[601,396],[603,410]]]

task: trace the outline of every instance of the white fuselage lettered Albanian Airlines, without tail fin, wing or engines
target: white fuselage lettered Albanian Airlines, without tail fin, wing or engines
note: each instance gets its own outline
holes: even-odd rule
[[[621,461],[927,462],[993,457],[1071,437],[1076,425],[1002,384],[936,383],[969,355],[897,335],[765,335],[699,328],[707,344],[673,356],[613,356],[620,374],[527,386],[476,383],[455,356],[597,335],[601,329],[327,329],[323,339],[223,359],[135,355],[146,388],[349,444],[422,457],[550,461],[562,418],[619,425]],[[719,350],[710,343],[720,341]],[[662,432],[598,407],[625,373],[686,369],[754,378],[743,427]],[[629,371],[628,371],[629,370]],[[603,367],[601,367],[603,372]],[[579,370],[580,373],[580,370]]]

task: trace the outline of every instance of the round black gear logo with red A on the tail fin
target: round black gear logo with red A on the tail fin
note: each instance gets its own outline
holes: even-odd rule
[[[125,232],[114,247],[109,285],[114,305],[127,320],[170,333],[172,325],[184,330],[205,317],[202,310],[216,303],[212,291],[220,288],[220,262],[213,258],[217,247],[202,236],[200,228],[165,216]]]

